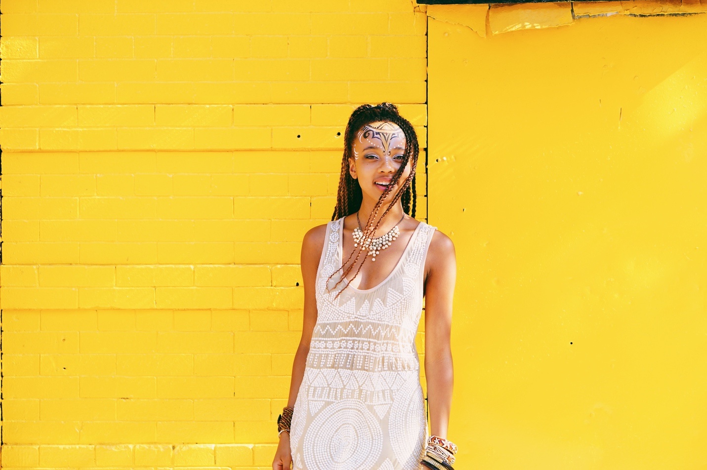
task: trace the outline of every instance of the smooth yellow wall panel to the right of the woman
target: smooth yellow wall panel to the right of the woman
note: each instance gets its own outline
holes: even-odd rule
[[[705,28],[616,15],[484,38],[430,19],[459,468],[704,465]]]

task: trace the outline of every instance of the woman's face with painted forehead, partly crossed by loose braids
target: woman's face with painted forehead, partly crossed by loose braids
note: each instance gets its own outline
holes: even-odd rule
[[[349,158],[351,177],[358,180],[365,196],[378,201],[380,194],[390,184],[405,153],[405,134],[397,124],[387,121],[372,122],[358,130],[354,138],[354,156]],[[397,192],[410,174],[411,161],[388,198]]]

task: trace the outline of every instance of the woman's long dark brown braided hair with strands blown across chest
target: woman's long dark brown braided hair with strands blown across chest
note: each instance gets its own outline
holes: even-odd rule
[[[341,217],[349,216],[352,213],[356,213],[356,211],[361,208],[361,202],[363,201],[363,192],[361,192],[361,185],[358,184],[358,180],[354,179],[354,177],[351,177],[351,173],[349,172],[349,159],[352,158],[352,155],[354,153],[354,139],[356,139],[356,134],[358,134],[358,131],[366,124],[371,124],[373,122],[380,121],[392,122],[393,124],[397,124],[397,126],[402,129],[403,134],[405,135],[405,152],[400,167],[398,168],[397,172],[395,172],[395,175],[393,175],[392,177],[392,181],[385,188],[385,191],[382,192],[380,198],[378,198],[378,201],[375,203],[375,206],[373,206],[373,211],[370,212],[370,216],[368,217],[368,221],[366,222],[366,227],[362,229],[364,237],[373,237],[373,234],[375,234],[375,231],[378,230],[378,226],[380,225],[381,221],[383,220],[383,218],[385,218],[385,215],[388,213],[388,211],[390,211],[390,209],[395,206],[398,199],[400,199],[402,203],[402,210],[404,211],[404,213],[407,213],[411,217],[415,216],[417,208],[417,194],[415,182],[417,158],[420,153],[420,148],[419,143],[417,141],[417,134],[415,132],[415,129],[412,127],[412,124],[410,124],[407,119],[400,115],[397,106],[393,105],[390,102],[383,102],[380,103],[380,105],[375,106],[361,105],[357,107],[354,112],[351,113],[351,117],[349,117],[349,122],[348,124],[346,124],[346,131],[344,132],[344,155],[341,159],[341,175],[339,177],[337,205],[334,207],[332,221],[336,221]],[[405,168],[407,167],[407,164],[410,161],[412,163],[410,174],[400,185],[399,189],[392,197],[390,204],[387,205],[385,210],[380,215],[380,218],[378,218],[378,221],[376,221],[376,217],[380,212],[380,208],[383,205],[383,201],[385,201],[388,194],[390,194],[390,192],[392,191],[392,188],[395,187],[397,182],[400,180],[400,177],[402,176],[403,172],[405,171]],[[374,221],[376,222],[373,223]],[[356,262],[358,262],[358,259],[361,257],[361,253],[363,252],[363,246],[361,244],[359,245],[360,246],[358,246],[358,248],[354,248],[354,251],[349,254],[349,257],[342,264],[343,274],[341,274],[341,278],[334,285],[334,288],[336,288],[339,283],[341,283],[344,278],[346,278],[346,276],[356,265]],[[356,254],[356,257],[354,257],[354,254]],[[354,258],[354,261],[349,264],[351,258]],[[365,256],[363,257],[363,262],[366,262]],[[358,266],[358,269],[356,269],[356,274],[354,274],[354,278],[358,276],[358,272],[361,271],[361,266],[363,266],[363,262],[361,262],[361,265]],[[346,268],[344,268],[344,266],[346,266]],[[331,279],[334,274],[337,274],[337,272],[338,271],[335,271],[332,276],[329,276],[329,279]],[[337,297],[340,293],[341,291],[337,293]]]

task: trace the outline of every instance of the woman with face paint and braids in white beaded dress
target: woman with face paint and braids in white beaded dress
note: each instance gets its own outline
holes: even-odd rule
[[[395,105],[351,114],[332,222],[309,230],[302,244],[302,339],[273,469],[454,463],[446,437],[455,251],[449,237],[414,218],[418,154]],[[414,344],[423,295],[429,438]]]

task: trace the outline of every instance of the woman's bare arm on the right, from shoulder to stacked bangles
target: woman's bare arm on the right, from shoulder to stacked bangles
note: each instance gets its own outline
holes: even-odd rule
[[[452,406],[452,298],[457,278],[454,243],[436,231],[428,250],[425,281],[425,375],[430,433],[447,438]]]

